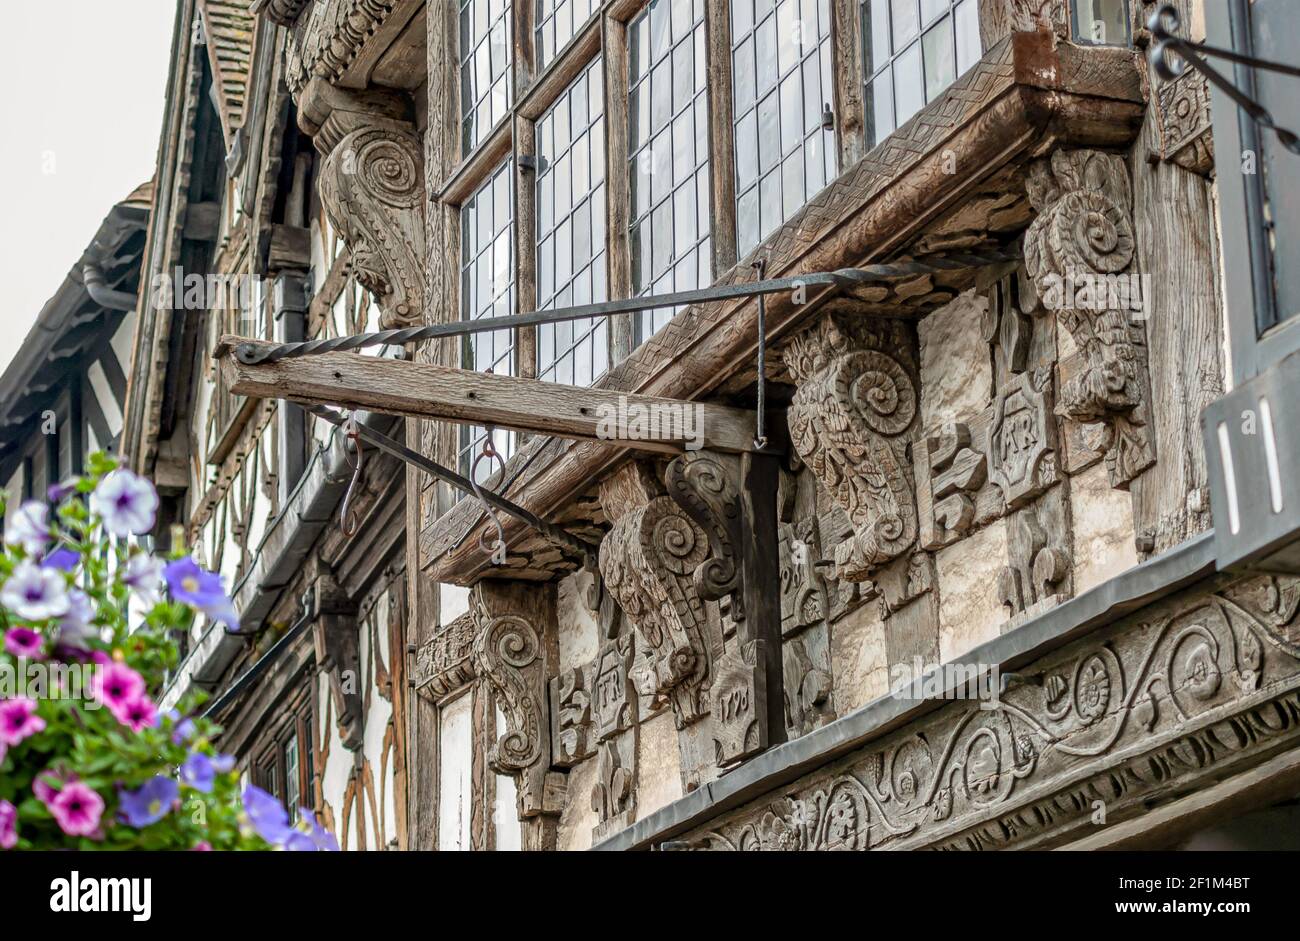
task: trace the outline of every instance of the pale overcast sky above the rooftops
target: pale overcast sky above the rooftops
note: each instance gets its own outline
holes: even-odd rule
[[[0,372],[112,205],[153,175],[176,8],[5,3]]]

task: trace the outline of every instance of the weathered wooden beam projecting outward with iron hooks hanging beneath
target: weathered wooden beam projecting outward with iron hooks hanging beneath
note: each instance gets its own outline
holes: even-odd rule
[[[757,450],[754,412],[740,408],[347,352],[244,365],[235,356],[243,343],[273,346],[243,337],[221,338],[214,356],[222,382],[238,395],[495,425],[641,451],[679,454],[688,445],[728,454]],[[646,424],[638,428],[638,421]]]

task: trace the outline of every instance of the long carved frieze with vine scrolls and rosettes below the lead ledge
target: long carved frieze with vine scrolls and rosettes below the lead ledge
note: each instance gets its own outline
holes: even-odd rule
[[[1300,741],[1300,582],[1175,597],[720,820],[696,849],[1052,846]]]

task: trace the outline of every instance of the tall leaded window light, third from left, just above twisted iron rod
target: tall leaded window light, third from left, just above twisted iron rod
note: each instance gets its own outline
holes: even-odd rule
[[[628,182],[636,295],[708,285],[708,101],[703,3],[654,0],[628,25]],[[645,311],[645,339],[675,311]]]

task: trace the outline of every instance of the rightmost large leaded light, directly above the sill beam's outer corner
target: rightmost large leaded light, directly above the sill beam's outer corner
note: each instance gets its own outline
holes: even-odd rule
[[[980,57],[979,0],[863,0],[867,147],[933,101]]]

